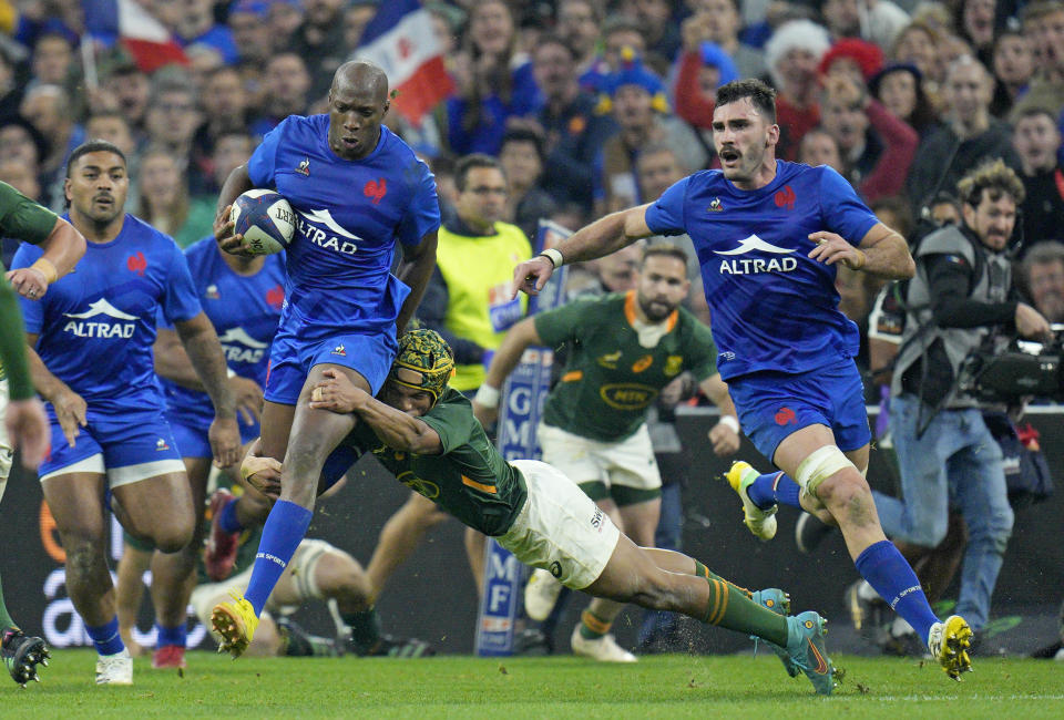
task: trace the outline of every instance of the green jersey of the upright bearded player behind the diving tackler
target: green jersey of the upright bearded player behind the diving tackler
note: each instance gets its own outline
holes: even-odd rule
[[[561,380],[546,399],[543,421],[602,442],[624,440],[646,421],[662,388],[684,370],[702,382],[717,370],[709,328],[678,308],[653,348],[640,344],[635,291],[577,299],[535,316],[550,348],[567,346]]]

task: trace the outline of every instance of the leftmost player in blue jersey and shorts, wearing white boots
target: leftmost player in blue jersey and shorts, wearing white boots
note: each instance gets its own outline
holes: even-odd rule
[[[160,312],[174,323],[214,404],[215,462],[236,464],[241,449],[222,346],[188,265],[173,239],[123,212],[129,185],[125,156],[111,143],[71,153],[68,218],[88,249],[76,271],[40,301],[22,301],[33,384],[51,421],[51,451],[38,472],[66,553],[70,598],[100,654],[100,685],[133,680],[106,564],[104,493],[126,531],[168,554],[161,562],[180,560],[193,537],[188,479],[153,368]],[[40,254],[22,245],[12,265],[31,267]],[[160,597],[164,617],[183,626],[180,587]]]

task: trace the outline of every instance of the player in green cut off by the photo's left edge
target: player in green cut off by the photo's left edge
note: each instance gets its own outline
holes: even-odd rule
[[[85,238],[70,223],[60,219],[7,183],[0,183],[0,235],[34,243],[44,253],[34,268],[4,274],[30,298],[41,298],[48,286],[66,275],[85,254]],[[0,265],[0,272],[4,271]],[[33,394],[25,361],[22,315],[11,284],[0,280],[0,497],[8,485],[12,455],[22,452],[22,465],[37,470],[48,451],[48,418]],[[48,665],[48,649],[41,638],[27,636],[11,619],[0,588],[0,656],[11,678],[25,687],[38,680],[37,665]]]

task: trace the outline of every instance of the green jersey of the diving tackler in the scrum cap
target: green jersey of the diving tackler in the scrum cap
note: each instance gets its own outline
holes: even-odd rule
[[[345,441],[374,456],[403,485],[424,495],[484,535],[502,535],[529,495],[524,477],[502,459],[473,416],[469,400],[447,388],[421,420],[443,444],[439,455],[413,455],[387,448],[359,423]]]

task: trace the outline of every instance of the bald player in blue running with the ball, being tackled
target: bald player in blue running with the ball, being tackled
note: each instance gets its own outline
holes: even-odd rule
[[[284,460],[280,497],[263,528],[247,590],[217,605],[212,617],[234,656],[247,647],[306,535],[326,457],[356,423],[354,415],[310,408],[310,390],[331,370],[376,394],[396,353],[397,330],[412,316],[436,265],[436,181],[381,125],[388,107],[383,71],[345,63],[332,78],[328,114],[282,122],[233,171],[218,197],[215,237],[234,254],[249,251],[227,219],[241,193],[275,188],[296,212],[262,419],[263,454]],[[397,245],[398,277],[389,272]]]

